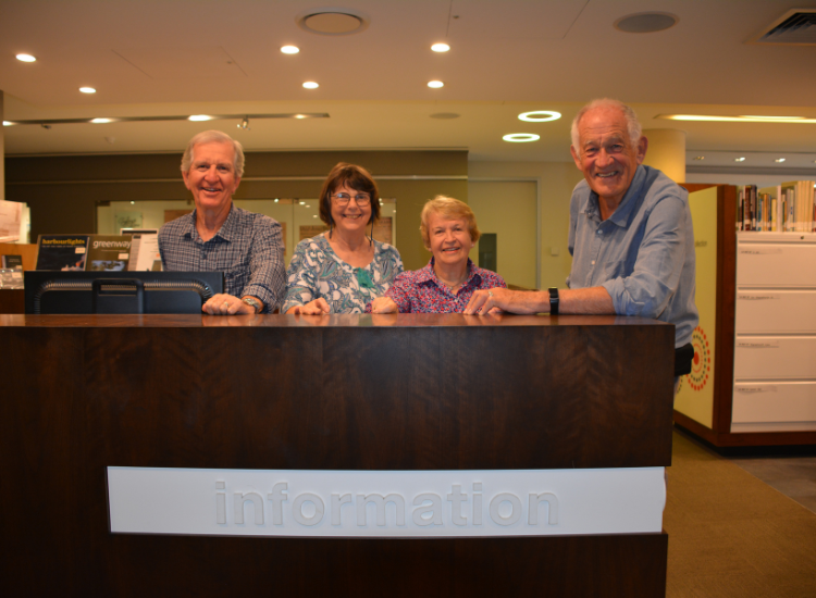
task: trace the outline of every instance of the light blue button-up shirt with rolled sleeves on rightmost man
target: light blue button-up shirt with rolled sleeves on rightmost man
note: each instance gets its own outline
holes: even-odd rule
[[[690,342],[700,317],[688,191],[641,165],[607,220],[601,220],[598,196],[586,180],[572,191],[569,216],[567,286],[602,286],[616,313],[669,322],[676,326],[675,346]]]

